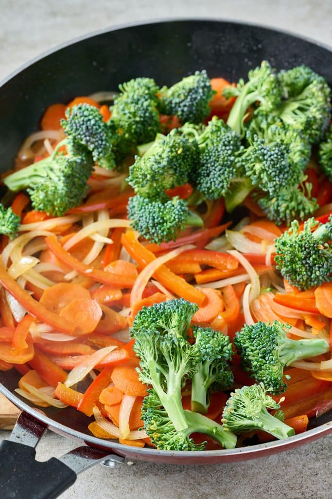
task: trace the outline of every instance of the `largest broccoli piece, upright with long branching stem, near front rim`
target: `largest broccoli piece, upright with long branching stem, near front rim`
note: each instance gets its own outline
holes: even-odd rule
[[[181,388],[202,359],[186,331],[196,310],[196,305],[178,299],[145,307],[136,314],[131,329],[140,357],[140,380],[152,385],[142,408],[144,428],[158,449],[201,450],[202,445],[189,438],[194,432],[211,435],[226,448],[236,444],[236,437],[221,425],[182,407]]]

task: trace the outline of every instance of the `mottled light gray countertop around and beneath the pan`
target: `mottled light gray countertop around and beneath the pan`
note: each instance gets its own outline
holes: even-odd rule
[[[267,24],[332,45],[330,0],[0,0],[0,79],[73,37],[116,24],[165,17],[216,17]],[[0,432],[0,440],[8,432]],[[74,447],[49,433],[38,459]],[[239,464],[102,466],[81,475],[64,499],[325,499],[331,496],[332,435],[276,456]],[[19,498],[20,499],[20,498]],[[24,498],[25,499],[25,498]],[[26,498],[30,499],[30,498]]]

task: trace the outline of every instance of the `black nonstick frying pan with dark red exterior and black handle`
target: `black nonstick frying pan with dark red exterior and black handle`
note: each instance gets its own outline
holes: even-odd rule
[[[0,87],[0,168],[11,168],[22,140],[38,128],[45,108],[76,95],[113,90],[138,76],[171,85],[198,69],[230,81],[245,77],[263,59],[277,69],[307,64],[332,84],[332,51],[316,42],[255,25],[216,20],[171,20],[131,25],[81,38],[23,67]],[[43,411],[14,392],[14,370],[0,372],[0,391],[22,414],[0,445],[0,495],[51,499],[99,461],[208,464],[253,459],[285,451],[332,432],[332,413],[311,421],[309,431],[283,441],[232,450],[170,452],[138,449],[89,434],[90,419],[68,407]],[[46,428],[81,443],[62,458],[34,460]],[[83,445],[82,445],[83,444]]]

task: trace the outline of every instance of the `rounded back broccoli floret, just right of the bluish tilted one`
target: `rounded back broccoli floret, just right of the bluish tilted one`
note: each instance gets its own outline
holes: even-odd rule
[[[119,86],[111,121],[128,149],[154,140],[161,131],[157,110],[158,87],[150,78],[136,78]]]

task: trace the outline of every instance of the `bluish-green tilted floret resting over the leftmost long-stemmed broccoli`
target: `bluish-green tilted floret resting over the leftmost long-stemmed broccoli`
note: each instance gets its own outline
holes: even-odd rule
[[[115,168],[112,151],[114,130],[104,123],[99,109],[89,104],[78,104],[67,109],[66,118],[61,120],[66,135],[74,143],[86,147],[99,166],[108,170]]]

